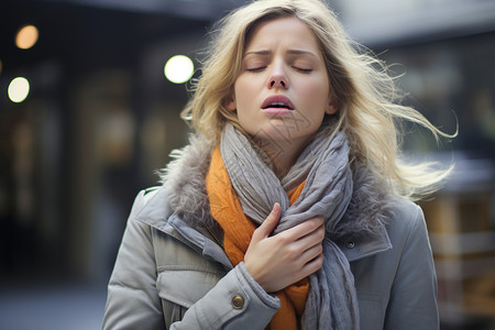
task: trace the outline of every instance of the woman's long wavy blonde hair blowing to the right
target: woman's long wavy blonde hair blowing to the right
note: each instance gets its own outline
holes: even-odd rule
[[[402,162],[398,123],[417,123],[437,141],[455,134],[441,132],[421,113],[402,106],[404,94],[396,88],[384,63],[370,52],[362,52],[363,47],[344,33],[337,15],[319,0],[258,0],[222,19],[183,118],[205,139],[216,142],[227,122],[240,128],[237,114],[227,110],[224,103],[239,74],[246,40],[257,24],[280,16],[296,16],[317,36],[330,91],[339,103],[337,129],[346,133],[353,160],[364,162],[391,189],[410,199],[438,189],[452,167],[433,170],[432,163]]]

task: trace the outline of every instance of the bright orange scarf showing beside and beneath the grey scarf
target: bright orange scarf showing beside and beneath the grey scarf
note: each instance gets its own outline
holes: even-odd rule
[[[290,205],[299,197],[304,184],[288,194]],[[223,246],[227,256],[235,266],[244,260],[255,226],[242,210],[239,198],[230,184],[229,174],[219,147],[213,151],[211,156],[206,185],[211,216],[223,229]],[[272,318],[267,329],[292,330],[300,328],[300,317],[305,310],[308,293],[308,278],[276,293],[280,299],[280,308]]]

